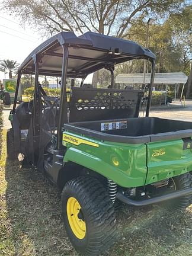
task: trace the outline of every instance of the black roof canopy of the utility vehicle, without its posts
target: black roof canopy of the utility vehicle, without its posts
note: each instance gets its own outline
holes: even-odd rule
[[[61,76],[62,44],[68,46],[68,76],[83,78],[89,73],[132,59],[155,59],[155,55],[133,41],[87,32],[75,36],[60,32],[41,43],[21,64],[19,71],[34,73],[33,56],[37,55],[39,74]]]

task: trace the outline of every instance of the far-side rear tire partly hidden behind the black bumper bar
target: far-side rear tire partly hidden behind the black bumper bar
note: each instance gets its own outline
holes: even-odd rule
[[[186,174],[182,174],[180,176],[176,176],[172,178],[172,181],[175,185],[175,190],[183,190],[185,188],[192,187],[192,175],[190,174],[190,172],[187,172]],[[178,199],[174,199],[169,202],[171,204],[172,209],[175,209],[175,210],[185,209],[188,206],[190,206],[190,204],[192,204],[192,194],[179,197]]]

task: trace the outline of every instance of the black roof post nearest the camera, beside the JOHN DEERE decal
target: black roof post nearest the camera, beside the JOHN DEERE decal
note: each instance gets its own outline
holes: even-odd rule
[[[62,126],[68,123],[68,102],[66,95],[66,75],[68,70],[68,56],[69,50],[65,44],[63,48],[63,62],[62,62],[62,78],[61,78],[61,91],[60,91],[60,108],[59,108],[59,123],[57,127],[57,149],[60,150],[62,146]]]

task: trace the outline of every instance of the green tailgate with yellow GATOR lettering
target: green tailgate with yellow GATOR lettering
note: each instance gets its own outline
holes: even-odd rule
[[[192,171],[191,138],[150,142],[147,152],[146,184]]]

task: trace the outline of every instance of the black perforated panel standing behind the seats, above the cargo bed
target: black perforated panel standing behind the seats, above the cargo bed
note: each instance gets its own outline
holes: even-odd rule
[[[69,122],[138,117],[143,91],[72,87]]]

